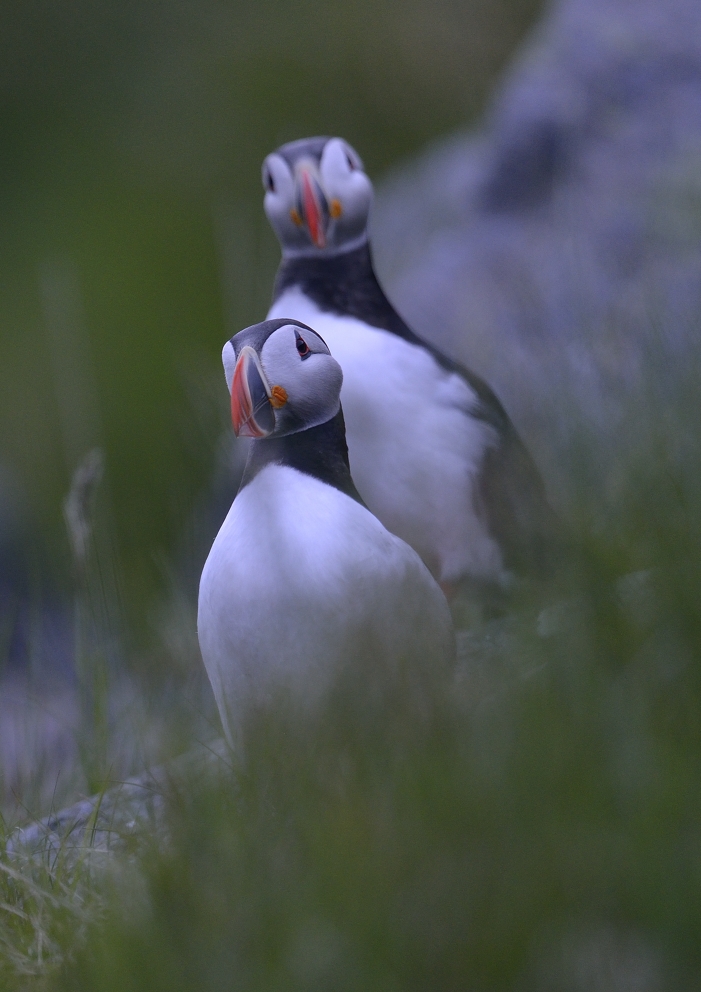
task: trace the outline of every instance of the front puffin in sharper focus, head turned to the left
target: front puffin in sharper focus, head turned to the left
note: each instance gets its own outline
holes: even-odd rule
[[[355,487],[343,373],[323,338],[266,320],[234,335],[222,358],[234,432],[250,441],[202,571],[197,632],[237,749],[251,707],[283,696],[313,710],[361,657],[406,683],[450,664],[455,634],[424,562]]]

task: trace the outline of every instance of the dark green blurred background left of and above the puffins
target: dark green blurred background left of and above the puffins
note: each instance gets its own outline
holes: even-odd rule
[[[102,533],[138,627],[213,471],[219,355],[277,245],[260,165],[341,134],[377,179],[474,122],[539,0],[5,3],[0,536],[60,587],[71,474],[105,453]],[[26,561],[31,560],[29,570]],[[20,564],[24,562],[25,564]]]

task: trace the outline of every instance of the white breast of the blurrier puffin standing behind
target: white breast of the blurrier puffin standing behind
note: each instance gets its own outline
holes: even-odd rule
[[[370,510],[439,581],[502,580],[501,552],[475,509],[497,435],[470,416],[477,397],[465,380],[395,334],[323,313],[298,289],[273,305],[276,317],[318,331],[343,369],[351,474]]]

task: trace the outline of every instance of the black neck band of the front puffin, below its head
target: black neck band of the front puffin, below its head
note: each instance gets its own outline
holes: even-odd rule
[[[252,441],[239,492],[266,465],[294,468],[365,505],[350,474],[346,427],[340,407],[336,416],[325,424],[284,437]]]

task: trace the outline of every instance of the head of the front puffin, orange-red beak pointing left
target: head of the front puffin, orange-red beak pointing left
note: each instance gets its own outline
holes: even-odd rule
[[[226,342],[222,360],[237,437],[296,434],[338,413],[341,366],[306,324],[252,324]]]

